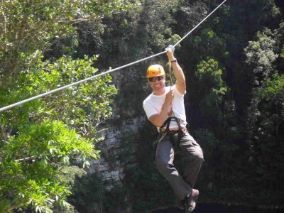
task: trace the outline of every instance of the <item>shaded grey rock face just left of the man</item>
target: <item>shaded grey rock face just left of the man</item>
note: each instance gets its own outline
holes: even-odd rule
[[[119,159],[121,158],[121,141],[127,141],[134,147],[138,143],[138,141],[131,141],[131,136],[138,134],[139,129],[146,122],[142,102],[146,94],[150,92],[145,87],[146,80],[141,76],[141,72],[133,67],[115,72],[113,80],[116,88],[119,89],[119,94],[114,100],[111,119],[106,124],[102,124],[102,129],[106,129],[101,135],[104,140],[96,145],[101,151],[101,158],[92,160],[89,170],[89,173],[99,173],[109,190],[112,187],[111,182],[121,183],[124,180],[126,165]],[[145,94],[144,91],[146,91]],[[135,153],[129,153],[129,155],[133,155],[130,164],[135,164]]]

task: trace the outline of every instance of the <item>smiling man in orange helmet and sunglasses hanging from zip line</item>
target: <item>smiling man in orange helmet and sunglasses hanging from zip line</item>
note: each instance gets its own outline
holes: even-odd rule
[[[195,209],[199,191],[193,189],[204,162],[202,148],[187,131],[184,94],[185,75],[173,55],[172,48],[166,48],[176,82],[165,87],[165,71],[160,65],[151,65],[147,70],[148,84],[153,92],[144,100],[143,108],[153,125],[158,128],[159,142],[155,162],[159,172],[168,180],[175,194],[177,204],[185,212]],[[175,153],[186,160],[182,175],[173,164]]]

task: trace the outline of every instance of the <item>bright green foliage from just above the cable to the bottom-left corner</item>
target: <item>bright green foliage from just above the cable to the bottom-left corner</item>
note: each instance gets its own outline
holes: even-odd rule
[[[53,63],[38,60],[36,66],[1,90],[1,104],[18,102],[92,76],[97,72],[92,67],[94,60],[87,57],[84,60],[63,57]],[[70,189],[67,183],[58,181],[60,168],[72,159],[89,166],[88,159],[99,156],[92,143],[100,140],[96,137],[97,126],[111,116],[111,96],[116,89],[110,82],[111,77],[105,75],[0,115],[1,175],[4,175],[1,200],[5,206],[9,204],[5,208],[31,204],[36,212],[48,212],[57,203],[67,205]],[[22,160],[25,158],[30,160]],[[7,192],[10,185],[13,190]],[[31,186],[37,187],[28,190]]]

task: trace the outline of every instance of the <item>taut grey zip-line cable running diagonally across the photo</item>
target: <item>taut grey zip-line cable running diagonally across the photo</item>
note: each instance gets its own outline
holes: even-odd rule
[[[221,4],[219,4],[219,6],[217,6],[216,9],[214,9],[211,13],[209,13],[209,15],[207,15],[205,18],[203,18],[203,20],[200,21],[200,23],[198,23],[197,26],[195,26],[194,28],[192,28],[192,30],[191,30],[190,32],[188,32],[185,36],[183,36],[183,37],[178,41],[178,43],[175,43],[175,45],[173,45],[173,47],[175,47],[176,45],[178,45],[182,40],[184,40],[188,35],[190,35],[190,33],[192,33],[192,31],[195,31],[195,29],[196,29],[198,26],[200,26],[200,24],[203,23],[209,16],[211,16],[212,13],[214,13],[214,11],[216,11],[217,9],[219,9],[219,7],[222,6],[222,4],[225,3],[225,1],[226,1],[226,0],[224,0]],[[107,72],[102,72],[102,73],[100,73],[100,74],[98,74],[98,75],[94,75],[94,76],[92,76],[92,77],[88,77],[88,78],[86,78],[86,79],[84,79],[84,80],[80,80],[80,81],[74,82],[74,83],[72,83],[72,84],[67,84],[67,85],[65,85],[65,86],[63,86],[63,87],[58,87],[57,89],[50,90],[50,91],[45,92],[45,93],[43,93],[43,94],[38,94],[38,95],[36,95],[35,97],[31,97],[31,98],[25,99],[25,100],[23,100],[23,101],[21,101],[21,102],[16,102],[16,103],[11,104],[11,105],[9,105],[9,106],[2,107],[2,108],[0,108],[0,111],[5,111],[5,110],[7,110],[7,109],[11,109],[12,107],[17,107],[17,106],[19,106],[19,105],[21,105],[21,104],[25,104],[26,102],[31,102],[31,101],[33,101],[34,99],[38,99],[38,98],[40,98],[40,97],[45,97],[45,96],[48,95],[48,94],[52,94],[52,93],[54,93],[54,92],[58,92],[58,91],[60,91],[60,90],[62,90],[62,89],[66,89],[67,87],[75,86],[75,85],[77,85],[77,84],[80,84],[80,83],[82,83],[82,82],[86,82],[86,81],[88,81],[88,80],[92,80],[92,79],[94,79],[94,78],[96,78],[96,77],[99,77],[99,76],[102,76],[102,75],[107,75],[107,74],[109,74],[109,73],[111,73],[111,72],[114,72],[114,71],[117,71],[117,70],[121,70],[121,69],[123,69],[123,68],[125,68],[125,67],[129,67],[129,66],[134,65],[134,64],[136,64],[136,63],[138,63],[138,62],[142,62],[142,61],[144,61],[144,60],[148,60],[148,59],[150,59],[150,58],[154,58],[154,57],[156,57],[156,56],[158,56],[158,55],[162,55],[162,54],[164,54],[164,53],[166,53],[166,51],[163,51],[163,52],[161,52],[161,53],[157,53],[157,54],[155,54],[155,55],[151,55],[151,56],[149,56],[149,57],[147,57],[147,58],[143,58],[143,59],[141,59],[141,60],[136,60],[136,61],[134,61],[134,62],[131,62],[131,63],[126,64],[126,65],[123,65],[123,66],[121,66],[121,67],[116,67],[115,69],[111,69],[111,70],[109,70],[109,71],[107,71]]]

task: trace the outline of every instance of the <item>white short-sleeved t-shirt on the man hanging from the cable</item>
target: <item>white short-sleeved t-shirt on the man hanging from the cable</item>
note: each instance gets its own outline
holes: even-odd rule
[[[173,112],[175,117],[182,119],[182,126],[186,126],[186,116],[185,116],[185,104],[184,104],[184,94],[181,94],[178,89],[173,85],[172,87],[174,98],[173,98]],[[165,102],[165,95],[170,91],[170,86],[165,87],[165,93],[161,95],[155,95],[153,92],[143,101],[143,108],[146,112],[148,119],[153,116],[153,114],[158,114],[160,109]],[[178,127],[175,121],[170,122],[170,129]]]

